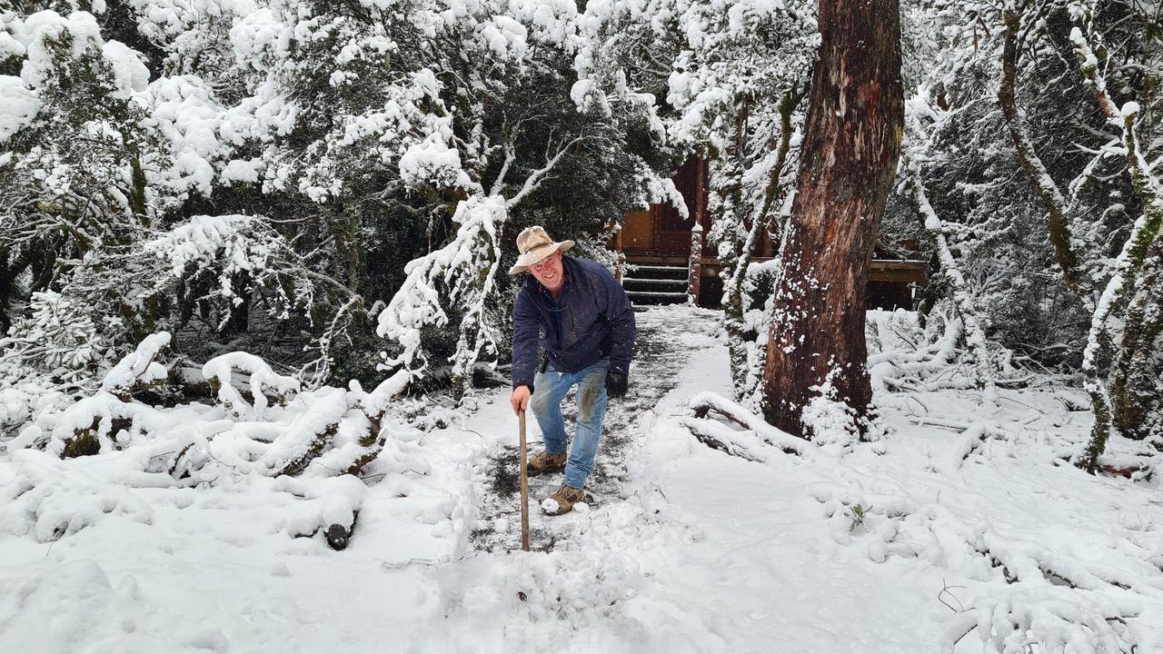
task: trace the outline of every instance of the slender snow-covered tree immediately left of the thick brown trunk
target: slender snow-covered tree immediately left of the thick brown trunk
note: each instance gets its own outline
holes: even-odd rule
[[[763,348],[756,342],[770,318],[752,307],[750,260],[764,233],[780,241],[791,208],[801,101],[819,42],[815,3],[742,2],[726,13],[692,3],[679,28],[686,49],[670,77],[668,100],[679,112],[671,133],[711,155],[708,241],[722,264],[723,325],[742,399],[757,390]]]

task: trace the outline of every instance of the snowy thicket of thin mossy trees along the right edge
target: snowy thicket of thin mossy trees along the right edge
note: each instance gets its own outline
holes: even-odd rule
[[[1148,354],[1158,285],[1144,283],[1157,275],[1158,143],[1137,136],[1155,129],[1158,51],[1137,37],[1151,12],[935,2],[928,15],[944,42],[927,100],[947,119],[921,175],[937,189],[937,211],[954,216],[952,242],[994,337],[1042,362],[1082,362],[1096,412],[1079,457],[1089,469],[1114,426],[1136,438],[1158,431],[1160,368]]]

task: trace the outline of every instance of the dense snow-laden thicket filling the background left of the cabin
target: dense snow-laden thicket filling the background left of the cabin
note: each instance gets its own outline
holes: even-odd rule
[[[317,384],[369,374],[379,314],[393,362],[452,354],[463,391],[504,340],[512,216],[590,242],[659,186],[649,112],[573,87],[572,2],[27,5],[0,34],[0,304],[72,293],[122,349],[165,327]]]

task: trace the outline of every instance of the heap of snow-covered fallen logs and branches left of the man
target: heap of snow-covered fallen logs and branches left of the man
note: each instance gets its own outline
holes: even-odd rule
[[[51,542],[112,516],[150,524],[158,502],[184,509],[252,493],[279,507],[272,531],[319,533],[342,549],[369,495],[361,476],[404,496],[430,472],[423,433],[388,412],[402,376],[372,392],[356,383],[302,390],[263,360],[231,353],[201,369],[213,404],[134,399],[166,382],[157,358],[169,342],[167,333],[145,339],[88,397],[12,411],[28,422],[0,441],[0,534]],[[433,523],[468,519],[461,503],[447,504]],[[445,531],[463,536],[468,527]]]

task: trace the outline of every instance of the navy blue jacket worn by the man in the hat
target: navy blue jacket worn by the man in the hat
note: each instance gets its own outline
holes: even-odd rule
[[[513,305],[514,389],[525,385],[533,390],[538,344],[545,348],[554,370],[577,372],[608,356],[611,370],[629,371],[634,307],[622,285],[590,260],[563,256],[562,266],[565,286],[556,301],[559,310],[533,275],[518,291]]]

